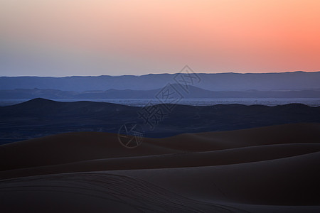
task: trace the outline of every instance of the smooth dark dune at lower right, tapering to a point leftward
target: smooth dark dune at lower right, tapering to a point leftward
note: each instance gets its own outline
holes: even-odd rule
[[[320,152],[232,165],[108,173],[152,181],[208,202],[320,206]]]

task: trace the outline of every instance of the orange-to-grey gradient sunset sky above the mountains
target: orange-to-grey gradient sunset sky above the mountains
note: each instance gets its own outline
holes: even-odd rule
[[[319,0],[0,0],[0,76],[320,70]]]

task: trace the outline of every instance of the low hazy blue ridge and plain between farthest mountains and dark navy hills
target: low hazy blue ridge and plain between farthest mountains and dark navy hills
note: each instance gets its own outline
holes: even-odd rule
[[[180,93],[181,98],[320,98],[320,89],[285,90],[285,91],[210,91],[199,87],[188,86],[188,91],[181,89],[179,84],[171,84]],[[11,89],[0,90],[0,99],[154,99],[162,88],[151,90],[107,89],[105,91],[73,92],[58,89]]]

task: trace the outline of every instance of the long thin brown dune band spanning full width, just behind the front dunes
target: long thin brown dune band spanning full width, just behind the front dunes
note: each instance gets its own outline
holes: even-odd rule
[[[137,170],[153,168],[186,168],[210,165],[230,165],[287,158],[320,151],[320,143],[279,144],[231,148],[222,151],[147,155],[125,158],[82,160],[58,165],[19,168],[0,172],[0,178],[102,170]]]

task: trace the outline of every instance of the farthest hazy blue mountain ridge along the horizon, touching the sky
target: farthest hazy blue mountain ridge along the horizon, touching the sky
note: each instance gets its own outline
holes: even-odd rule
[[[180,74],[181,75],[181,74]],[[0,77],[0,89],[60,89],[83,92],[88,90],[132,89],[150,90],[175,83],[176,74],[73,76],[73,77]],[[213,91],[305,90],[319,89],[320,72],[279,73],[215,73],[198,74],[200,82],[193,86]],[[176,82],[178,83],[178,82]]]

